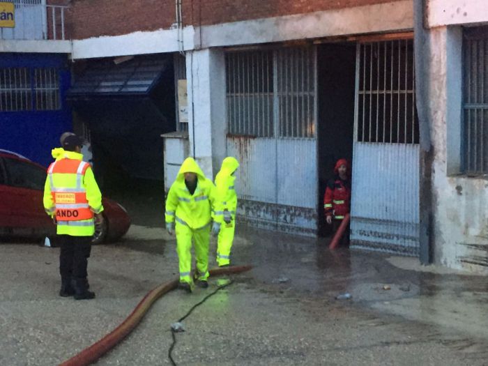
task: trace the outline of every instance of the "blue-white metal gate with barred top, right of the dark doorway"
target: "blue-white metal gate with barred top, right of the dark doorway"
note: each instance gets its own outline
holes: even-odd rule
[[[413,41],[357,49],[351,245],[419,254]]]

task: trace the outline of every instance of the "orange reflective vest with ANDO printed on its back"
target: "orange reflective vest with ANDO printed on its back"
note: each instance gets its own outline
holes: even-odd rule
[[[47,174],[51,185],[51,195],[55,205],[56,220],[79,221],[93,219],[86,189],[83,185],[83,177],[89,163],[75,159],[61,159],[53,162]],[[54,174],[63,174],[63,182],[66,184],[54,185]],[[69,182],[69,183],[68,183]],[[70,183],[75,183],[73,184]]]

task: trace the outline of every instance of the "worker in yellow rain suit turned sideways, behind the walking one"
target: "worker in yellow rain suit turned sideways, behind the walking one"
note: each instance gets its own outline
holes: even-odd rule
[[[224,224],[220,229],[217,244],[217,264],[219,267],[229,266],[234,232],[236,231],[237,195],[234,188],[239,162],[236,158],[227,157],[222,161],[222,167],[215,177],[217,196],[222,202]]]

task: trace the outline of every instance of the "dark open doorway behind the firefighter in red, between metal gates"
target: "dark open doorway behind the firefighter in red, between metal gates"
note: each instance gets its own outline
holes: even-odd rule
[[[319,235],[330,234],[325,224],[323,194],[333,178],[335,162],[346,158],[352,166],[356,45],[333,43],[317,49],[319,94]]]

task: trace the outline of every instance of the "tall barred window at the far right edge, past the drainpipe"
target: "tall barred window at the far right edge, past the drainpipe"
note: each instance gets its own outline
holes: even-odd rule
[[[488,27],[464,31],[464,165],[488,173]]]

